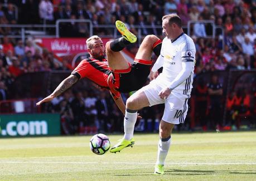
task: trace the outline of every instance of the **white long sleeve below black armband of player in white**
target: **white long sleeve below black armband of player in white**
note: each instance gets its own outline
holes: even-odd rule
[[[194,62],[181,62],[182,70],[177,75],[177,77],[171,82],[169,89],[175,89],[183,81],[191,75],[191,72],[194,70]]]

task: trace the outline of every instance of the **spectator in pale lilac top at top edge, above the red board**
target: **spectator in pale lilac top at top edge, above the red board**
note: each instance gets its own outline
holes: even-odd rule
[[[39,4],[39,16],[41,21],[46,23],[54,22],[54,6],[50,0],[41,0]]]

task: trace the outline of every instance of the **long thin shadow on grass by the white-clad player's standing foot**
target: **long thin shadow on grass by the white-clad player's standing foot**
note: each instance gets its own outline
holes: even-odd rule
[[[115,176],[143,176],[152,175],[153,172],[117,174]],[[216,174],[255,174],[255,170],[178,170],[170,169],[165,171],[165,175],[216,175]]]

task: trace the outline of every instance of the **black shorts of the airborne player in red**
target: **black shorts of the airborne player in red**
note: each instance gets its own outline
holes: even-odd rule
[[[148,79],[148,75],[151,70],[151,63],[150,65],[146,65],[139,62],[134,62],[131,67],[131,71],[119,74],[120,77],[120,92],[131,92],[135,90],[141,89]]]

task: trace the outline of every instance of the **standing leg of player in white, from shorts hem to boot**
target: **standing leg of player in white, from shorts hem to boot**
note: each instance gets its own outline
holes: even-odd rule
[[[173,127],[174,124],[167,123],[163,120],[160,122],[160,140],[158,142],[157,162],[154,167],[154,174],[163,174],[165,172],[163,166],[165,165],[166,156],[171,145],[171,133]]]

